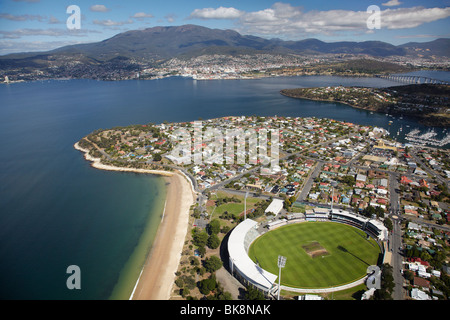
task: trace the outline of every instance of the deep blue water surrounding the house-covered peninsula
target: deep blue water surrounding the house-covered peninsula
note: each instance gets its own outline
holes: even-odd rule
[[[73,149],[98,128],[278,115],[427,129],[413,119],[390,126],[384,114],[279,94],[328,85],[398,83],[314,76],[0,85],[0,298],[107,299],[146,223],[153,217],[157,224],[162,178],[96,170]],[[66,287],[72,264],[81,269],[81,290]]]

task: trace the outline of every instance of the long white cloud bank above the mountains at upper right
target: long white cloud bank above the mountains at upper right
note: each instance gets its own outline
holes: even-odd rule
[[[385,5],[400,4],[396,0]],[[415,28],[424,23],[450,16],[449,8],[397,8],[380,11],[382,29]],[[190,18],[235,20],[241,33],[303,37],[308,34],[335,35],[339,32],[367,32],[371,13],[352,10],[307,11],[287,3],[277,2],[270,8],[245,12],[234,8],[194,10]]]

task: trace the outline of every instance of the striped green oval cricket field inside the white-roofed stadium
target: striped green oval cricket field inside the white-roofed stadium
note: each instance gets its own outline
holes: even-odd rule
[[[287,258],[281,284],[327,288],[350,283],[376,265],[380,249],[364,231],[335,222],[304,222],[267,232],[250,246],[250,258],[278,274],[278,255]]]

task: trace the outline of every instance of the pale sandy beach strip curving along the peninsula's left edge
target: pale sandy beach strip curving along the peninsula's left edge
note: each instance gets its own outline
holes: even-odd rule
[[[164,176],[168,187],[162,219],[129,300],[169,300],[189,226],[189,210],[195,200],[192,183],[179,170],[168,172],[104,165],[78,142],[74,148],[83,152],[84,158],[96,169]]]

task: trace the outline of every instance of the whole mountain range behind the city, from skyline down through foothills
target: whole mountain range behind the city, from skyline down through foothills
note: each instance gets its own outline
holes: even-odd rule
[[[318,39],[285,41],[241,35],[233,30],[197,25],[152,27],[119,33],[109,39],[64,46],[46,52],[14,53],[0,56],[0,71],[18,68],[49,68],[70,61],[85,66],[130,63],[156,64],[174,57],[192,58],[205,54],[365,54],[374,57],[450,57],[450,39],[392,45],[381,41],[323,42]]]

